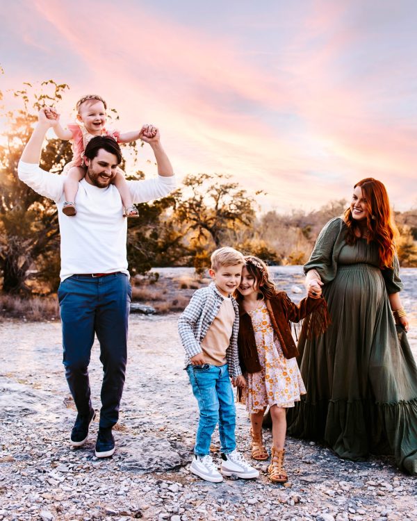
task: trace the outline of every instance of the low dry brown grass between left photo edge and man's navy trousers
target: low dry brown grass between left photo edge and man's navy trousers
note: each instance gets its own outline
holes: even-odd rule
[[[56,296],[18,297],[0,295],[1,318],[24,318],[40,322],[59,318],[59,305]]]

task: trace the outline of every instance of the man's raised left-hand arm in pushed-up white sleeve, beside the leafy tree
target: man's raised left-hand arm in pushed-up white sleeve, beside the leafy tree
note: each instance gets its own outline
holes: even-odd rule
[[[58,201],[63,194],[63,178],[50,172],[45,172],[39,167],[40,153],[45,134],[54,121],[48,119],[45,109],[38,114],[38,124],[28,142],[17,167],[19,179],[38,192],[38,194]]]

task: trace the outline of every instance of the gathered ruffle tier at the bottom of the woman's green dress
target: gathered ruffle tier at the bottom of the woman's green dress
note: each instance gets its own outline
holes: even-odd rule
[[[288,436],[325,443],[344,459],[363,461],[370,454],[395,456],[398,467],[417,474],[417,399],[377,403],[371,399],[302,399],[288,412]],[[327,426],[327,427],[326,427]],[[344,430],[343,430],[344,427]]]

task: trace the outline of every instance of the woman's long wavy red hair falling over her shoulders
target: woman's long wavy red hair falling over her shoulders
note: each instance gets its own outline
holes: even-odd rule
[[[379,252],[379,266],[384,269],[392,267],[395,255],[395,238],[398,235],[397,226],[393,220],[388,194],[381,181],[366,177],[362,179],[354,188],[361,187],[363,197],[367,199],[368,216],[366,226],[369,234],[368,244],[373,241],[377,244]],[[357,229],[357,221],[352,217],[352,210],[345,210],[345,223],[347,225],[346,242],[353,245],[357,241],[354,231]]]

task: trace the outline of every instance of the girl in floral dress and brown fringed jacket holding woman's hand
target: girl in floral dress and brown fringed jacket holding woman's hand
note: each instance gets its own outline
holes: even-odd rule
[[[238,349],[240,367],[247,377],[246,406],[252,424],[252,458],[263,461],[268,452],[262,442],[262,420],[267,406],[272,417],[272,458],[268,477],[273,483],[287,481],[284,470],[286,408],[305,394],[295,356],[297,347],[290,322],[304,320],[302,333],[322,333],[329,322],[324,299],[309,288],[309,297],[294,304],[269,279],[261,259],[245,257],[236,300],[240,325]]]

